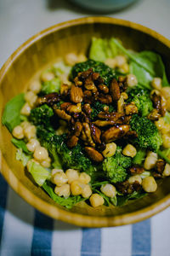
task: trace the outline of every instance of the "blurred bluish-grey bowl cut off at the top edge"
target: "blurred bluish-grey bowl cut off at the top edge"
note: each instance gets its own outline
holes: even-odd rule
[[[127,7],[138,0],[70,0],[85,9],[95,12],[111,12]]]

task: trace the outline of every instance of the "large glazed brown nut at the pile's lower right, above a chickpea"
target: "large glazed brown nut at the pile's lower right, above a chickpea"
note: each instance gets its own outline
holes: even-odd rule
[[[116,139],[121,138],[126,135],[127,131],[130,130],[130,125],[116,125],[106,130],[102,134],[102,140],[105,143],[114,142]]]

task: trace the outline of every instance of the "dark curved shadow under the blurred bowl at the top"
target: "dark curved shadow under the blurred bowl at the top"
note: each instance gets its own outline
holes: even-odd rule
[[[84,0],[85,1],[85,0]],[[82,15],[111,15],[114,13],[120,13],[126,11],[126,9],[136,8],[139,3],[144,0],[138,0],[134,3],[129,4],[127,7],[120,9],[118,11],[111,11],[111,12],[99,12],[90,9],[83,9],[82,7],[78,6],[76,3],[72,3],[71,0],[46,0],[47,8],[51,11],[55,9],[68,9],[76,12],[77,14]]]

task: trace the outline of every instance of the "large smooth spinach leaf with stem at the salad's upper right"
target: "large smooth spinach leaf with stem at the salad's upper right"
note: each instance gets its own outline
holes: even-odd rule
[[[113,38],[113,40],[116,46],[122,49],[123,53],[129,57],[130,73],[133,73],[137,77],[140,85],[151,89],[150,81],[155,77],[160,77],[162,79],[162,86],[169,85],[165,67],[161,61],[160,55],[147,50],[144,50],[139,54],[133,54],[125,49],[116,38]]]

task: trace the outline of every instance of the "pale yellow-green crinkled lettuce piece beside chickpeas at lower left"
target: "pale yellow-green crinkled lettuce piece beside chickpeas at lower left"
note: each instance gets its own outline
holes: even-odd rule
[[[39,186],[42,186],[46,179],[50,179],[51,177],[51,173],[47,169],[43,168],[34,161],[29,163],[28,172],[31,173],[31,176]]]

